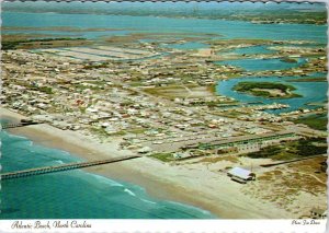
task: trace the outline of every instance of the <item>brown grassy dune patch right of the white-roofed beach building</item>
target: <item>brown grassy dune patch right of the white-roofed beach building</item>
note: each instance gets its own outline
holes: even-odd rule
[[[318,172],[320,163],[326,160],[326,158],[314,158],[307,161],[291,163],[287,165],[288,170],[275,167],[274,171],[264,172],[257,176],[257,185],[249,186],[243,193],[276,202],[283,207],[294,201],[300,195],[300,191],[317,197],[322,195],[326,197],[327,174]],[[298,211],[297,209],[296,213]]]

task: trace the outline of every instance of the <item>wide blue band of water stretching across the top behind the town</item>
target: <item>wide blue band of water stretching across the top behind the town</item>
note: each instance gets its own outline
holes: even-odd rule
[[[3,3],[4,5],[10,3]],[[111,5],[111,4],[107,4]],[[4,8],[5,9],[5,8]],[[76,10],[78,11],[78,10]],[[2,12],[3,26],[54,27],[71,26],[80,28],[116,28],[131,33],[194,33],[217,34],[223,38],[264,38],[300,39],[327,43],[326,25],[308,24],[252,24],[243,21],[207,19],[175,19],[159,16],[106,15],[106,14],[65,14]],[[270,28],[270,30],[269,30]],[[35,31],[37,32],[37,31]],[[35,33],[31,31],[31,33]],[[60,32],[67,34],[67,32]],[[120,34],[120,32],[117,32]],[[113,35],[106,32],[81,32],[87,38]],[[214,36],[212,36],[214,37]],[[222,38],[222,37],[219,37]]]

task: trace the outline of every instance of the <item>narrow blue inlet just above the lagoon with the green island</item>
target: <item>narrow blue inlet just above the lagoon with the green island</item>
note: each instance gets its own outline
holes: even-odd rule
[[[298,58],[297,62],[285,62],[277,58],[270,59],[239,59],[216,61],[218,65],[230,65],[240,67],[247,71],[262,71],[262,70],[286,70],[294,67],[299,67],[306,62],[305,58]]]

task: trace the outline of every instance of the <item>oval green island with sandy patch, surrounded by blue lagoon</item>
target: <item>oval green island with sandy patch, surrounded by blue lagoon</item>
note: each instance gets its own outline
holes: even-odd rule
[[[270,98],[300,97],[298,94],[291,93],[291,91],[296,90],[294,86],[275,82],[239,82],[234,86],[234,90]]]

